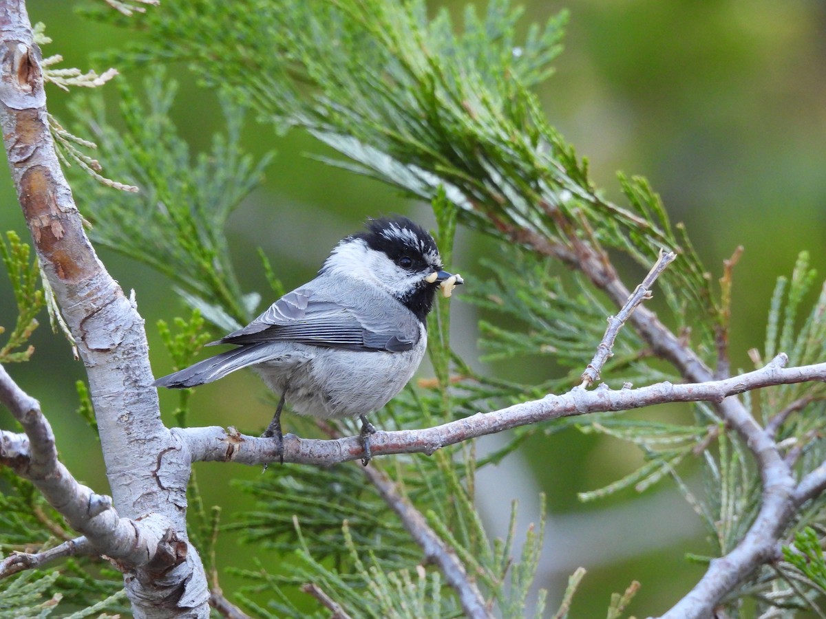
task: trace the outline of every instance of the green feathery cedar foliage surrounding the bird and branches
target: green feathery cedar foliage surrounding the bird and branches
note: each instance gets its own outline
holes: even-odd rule
[[[506,0],[489,2],[484,15],[468,7],[461,25],[446,11],[428,17],[425,3],[417,0],[193,0],[164,2],[145,12],[115,12],[102,4],[85,11],[148,37],[148,44],[141,41],[111,59],[119,69],[179,62],[205,87],[221,93],[226,129],[202,154],[190,153],[169,120],[175,85],[156,69],[140,88],[119,87],[115,121],[107,118],[98,97],[78,97],[71,132],[57,120],[53,125],[62,148],[68,149],[64,162],[80,163],[73,168],[72,182],[83,195],[83,215],[93,224],[93,240],[164,273],[192,309],[188,319],[174,319],[172,328],[159,325],[176,366],[191,362],[215,333],[243,324],[259,311],[262,298],[272,296],[241,290],[225,236],[227,217],[271,164],[270,156],[256,161],[244,152],[240,136],[245,116],[273,130],[306,130],[340,154],[327,160],[331,165],[429,201],[448,263],[457,224],[500,239],[503,258],[487,263],[491,276],[468,286],[462,297],[518,319],[507,323],[518,326],[482,323],[482,350],[490,359],[553,357],[571,370],[561,378],[548,376],[543,385],[479,375],[453,352],[448,308],[440,303],[429,325],[430,361],[438,386],[406,389],[388,405],[384,429],[423,427],[574,384],[600,339],[605,316],[612,312],[595,286],[598,282],[578,272],[560,277],[548,267],[548,258],[554,257],[577,269],[576,259],[566,261],[577,243],[643,267],[660,248],[678,252],[680,258],[658,282],[667,301],[663,319],[678,333],[689,333],[691,327],[691,347],[714,365],[715,338],[728,328],[725,286],[715,289],[685,230],[672,224],[644,178],[619,175],[625,198],[621,205],[603,197],[591,182],[587,160],[548,123],[532,90],[553,73],[564,13],[517,37],[521,12]],[[107,177],[83,155],[88,139],[97,143]],[[132,186],[140,189],[136,195],[113,191]],[[36,326],[34,317],[45,292],[37,290],[37,269],[26,245],[11,234],[7,239],[0,250],[20,318],[0,348],[0,361],[24,361],[30,353],[18,349]],[[262,268],[278,294],[280,283],[265,259]],[[792,276],[778,281],[767,318],[764,361],[781,350],[789,353],[793,365],[824,357],[826,291],[809,314],[802,314],[801,300],[813,284],[814,273],[801,254]],[[639,334],[624,329],[605,376],[638,385],[679,380],[643,348]],[[453,380],[455,376],[461,380]],[[756,415],[766,416],[807,400],[780,431],[790,445],[802,446],[797,465],[801,475],[826,456],[815,440],[824,429],[823,390],[824,385],[788,385],[745,400]],[[176,411],[182,425],[188,423],[188,395],[182,392]],[[91,420],[89,405],[82,401],[84,416]],[[601,414],[576,423],[562,420],[521,428],[483,461],[477,461],[470,444],[430,458],[396,456],[373,466],[391,475],[425,513],[430,526],[477,575],[496,612],[523,617],[538,565],[544,513],[535,514],[538,527],[516,532],[514,506],[509,535],[490,539],[473,503],[478,467],[500,461],[531,435],[572,432],[575,424],[585,432],[617,437],[638,446],[646,463],[604,489],[583,493],[582,499],[629,487],[641,491],[672,480],[705,523],[711,553],[723,554],[752,520],[759,479],[747,450],[720,427],[713,410],[705,404],[692,410],[694,421],[686,424]],[[321,435],[306,421],[298,432]],[[680,475],[681,463],[698,452],[704,461],[701,494],[689,489]],[[216,537],[225,529],[243,532],[245,542],[280,560],[277,569],[268,561],[241,570],[248,585],[230,593],[254,616],[324,617],[323,609],[308,610],[306,598],[297,594],[307,582],[320,586],[352,617],[460,613],[438,570],[419,564],[417,546],[354,466],[291,466],[278,475],[239,482],[240,491],[253,497],[257,507],[224,523],[220,508],[204,505],[194,475],[192,479],[192,539],[211,574],[217,569]],[[40,504],[30,484],[12,475],[5,475],[3,484],[2,551],[54,545],[59,539],[55,532],[63,527],[59,516]],[[815,598],[824,591],[824,560],[813,535],[823,520],[823,499],[798,514],[787,532],[795,541],[786,549],[786,560],[757,569],[740,585],[726,602],[732,616],[748,597],[776,617],[791,616],[802,607],[819,612]],[[514,557],[517,539],[524,545]],[[804,556],[809,560],[801,559]],[[576,603],[574,590],[581,579],[579,573],[572,577],[558,617],[567,616],[572,598]],[[0,581],[0,617],[43,617],[59,602],[67,603],[61,598],[86,607],[72,617],[116,612],[123,610],[122,598],[114,593],[119,584],[116,573],[88,559],[36,575],[21,574]],[[619,617],[635,590],[632,586],[624,595],[615,594],[610,617]],[[551,601],[553,607],[558,603]],[[530,604],[541,616],[544,593]]]

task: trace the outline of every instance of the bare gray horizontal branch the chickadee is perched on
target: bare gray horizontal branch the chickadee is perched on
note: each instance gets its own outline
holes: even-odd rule
[[[638,389],[611,390],[603,385],[596,390],[575,387],[563,395],[546,395],[522,404],[514,404],[491,413],[444,423],[434,428],[377,431],[370,437],[374,456],[392,453],[432,454],[441,447],[467,441],[470,438],[501,432],[510,428],[560,417],[586,413],[640,409],[668,402],[720,402],[730,395],[761,389],[771,385],[786,385],[809,380],[826,381],[826,363],[784,368],[786,355],[778,355],[767,366],[725,380],[688,385],[658,383]],[[728,400],[727,400],[728,401]],[[733,399],[731,401],[734,401]],[[762,429],[755,424],[757,431]],[[240,434],[235,428],[173,428],[190,450],[192,461],[240,462],[248,465],[271,463],[278,459],[275,442],[268,438]],[[771,442],[773,445],[774,443]],[[301,464],[331,465],[363,457],[359,437],[325,441],[284,437],[284,461]]]

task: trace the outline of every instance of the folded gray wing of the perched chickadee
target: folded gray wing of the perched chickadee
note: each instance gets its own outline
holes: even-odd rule
[[[404,305],[376,295],[351,301],[310,287],[287,293],[246,327],[216,343],[296,342],[356,351],[402,352],[419,342],[419,321]],[[341,296],[341,295],[337,295]]]

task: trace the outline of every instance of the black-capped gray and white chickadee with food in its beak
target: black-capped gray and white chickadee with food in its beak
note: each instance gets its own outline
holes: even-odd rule
[[[365,415],[387,404],[425,355],[425,319],[440,288],[450,296],[461,276],[442,269],[433,237],[406,217],[369,220],[367,231],[335,246],[318,275],[287,293],[246,327],[211,344],[234,350],[155,380],[183,389],[251,366],[281,395],[264,437],[276,437],[283,461],[284,402],[302,415],[358,417],[370,461]]]

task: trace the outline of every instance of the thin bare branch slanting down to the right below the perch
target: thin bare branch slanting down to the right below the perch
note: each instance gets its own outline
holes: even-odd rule
[[[448,547],[441,538],[431,529],[425,517],[419,510],[414,508],[406,498],[396,491],[396,484],[393,484],[387,475],[384,475],[376,468],[364,468],[364,475],[367,475],[373,485],[382,496],[385,503],[392,508],[401,519],[407,532],[425,552],[427,560],[439,565],[439,569],[444,574],[444,579],[456,592],[459,603],[462,605],[465,617],[479,617],[488,619],[493,617],[487,608],[485,598],[477,588],[476,583],[468,578],[468,573],[464,569],[462,562]]]

